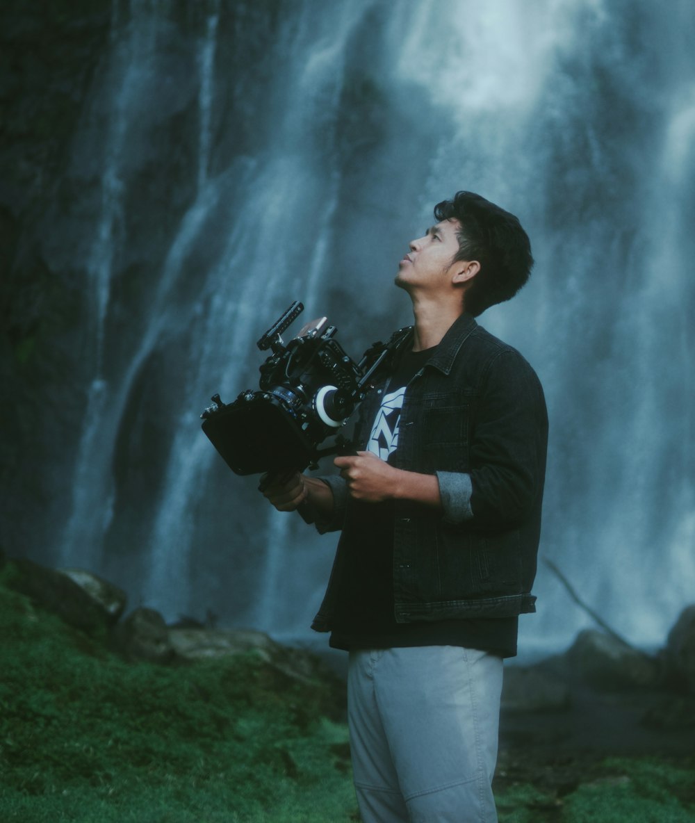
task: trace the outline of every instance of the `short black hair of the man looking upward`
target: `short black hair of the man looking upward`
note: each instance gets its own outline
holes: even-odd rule
[[[438,221],[457,220],[459,250],[454,260],[477,260],[478,272],[466,289],[466,311],[477,317],[510,300],[531,274],[531,242],[517,217],[472,192],[456,192],[434,207]]]

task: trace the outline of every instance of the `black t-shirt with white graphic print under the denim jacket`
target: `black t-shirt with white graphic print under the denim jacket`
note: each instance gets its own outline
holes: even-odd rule
[[[392,463],[405,386],[433,349],[407,351],[396,364],[367,449]],[[330,644],[336,649],[465,646],[502,657],[517,653],[517,617],[397,623],[393,597],[393,502],[350,503]]]

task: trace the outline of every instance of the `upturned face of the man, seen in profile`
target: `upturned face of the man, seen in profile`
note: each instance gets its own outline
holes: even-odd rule
[[[396,286],[406,291],[450,289],[458,253],[456,232],[461,230],[457,220],[444,220],[429,228],[423,237],[411,240],[410,251],[398,264]]]

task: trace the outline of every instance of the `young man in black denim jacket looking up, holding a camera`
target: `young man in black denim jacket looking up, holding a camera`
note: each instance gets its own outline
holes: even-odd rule
[[[337,477],[272,482],[281,511],[341,529],[313,628],[350,652],[365,823],[496,821],[503,658],[535,611],[548,422],[521,355],[474,317],[531,272],[516,217],[470,192],[434,209],[396,286],[415,326],[363,402]]]

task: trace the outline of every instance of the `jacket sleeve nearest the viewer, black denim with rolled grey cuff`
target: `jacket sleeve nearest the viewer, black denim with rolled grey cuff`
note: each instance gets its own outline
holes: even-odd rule
[[[540,382],[517,351],[502,351],[470,421],[470,472],[437,472],[444,521],[514,528],[543,491],[548,417]]]

